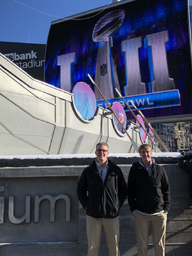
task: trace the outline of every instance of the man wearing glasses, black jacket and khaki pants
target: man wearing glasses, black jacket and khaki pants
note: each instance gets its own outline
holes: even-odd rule
[[[83,170],[77,185],[77,196],[86,210],[88,256],[97,256],[102,228],[109,256],[119,256],[119,210],[127,198],[124,175],[108,159],[108,144],[96,146],[96,159]]]

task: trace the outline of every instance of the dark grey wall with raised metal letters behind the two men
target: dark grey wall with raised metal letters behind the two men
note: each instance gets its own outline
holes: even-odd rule
[[[189,177],[179,168],[177,159],[171,160],[169,163],[166,163],[166,158],[157,160],[168,173],[172,191],[172,206],[166,230],[166,255],[189,256],[192,247],[192,200],[189,198]],[[38,162],[38,159],[36,161]],[[52,166],[0,168],[0,255],[86,256],[85,212],[77,201],[76,186],[85,164],[90,161],[92,159],[83,159],[84,164],[77,166],[54,166],[53,160]],[[113,157],[113,161],[118,164],[121,161],[124,163],[119,165],[127,180],[131,161],[136,159],[125,163],[126,159]],[[71,163],[74,162],[71,159]],[[54,220],[51,221],[51,206],[47,198],[55,199],[61,195],[63,198],[66,196],[66,200],[61,198],[56,202],[55,208],[52,209],[52,212],[55,212]],[[29,212],[26,212],[26,196],[31,199]],[[38,201],[35,200],[43,197],[45,199],[39,204],[37,211]],[[67,198],[70,201],[69,208]],[[68,209],[70,220],[67,215]],[[35,215],[35,212],[39,215]],[[120,252],[124,256],[137,254],[134,221],[127,202],[120,211]],[[100,243],[99,256],[101,255],[108,255],[104,234]],[[148,255],[154,255],[151,232]]]

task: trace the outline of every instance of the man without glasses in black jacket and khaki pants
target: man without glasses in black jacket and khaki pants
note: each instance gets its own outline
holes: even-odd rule
[[[141,159],[132,164],[128,177],[128,202],[134,214],[138,256],[147,256],[151,225],[156,256],[164,256],[166,220],[170,209],[170,185],[162,166],[152,159],[152,148],[139,148]]]

